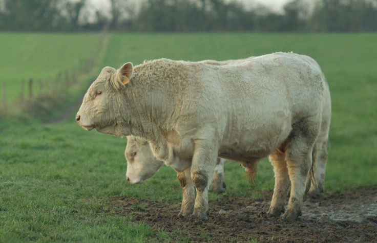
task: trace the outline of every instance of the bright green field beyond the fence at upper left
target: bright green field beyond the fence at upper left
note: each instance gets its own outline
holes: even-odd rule
[[[22,80],[54,81],[59,72],[96,58],[100,46],[99,34],[0,33],[0,40],[0,84],[7,84],[8,103],[18,99]],[[35,83],[34,94],[37,89]]]

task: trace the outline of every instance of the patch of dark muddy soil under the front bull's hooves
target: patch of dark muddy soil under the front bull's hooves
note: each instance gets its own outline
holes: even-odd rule
[[[110,198],[116,213],[173,232],[174,241],[377,242],[377,190],[360,189],[305,198],[295,222],[267,216],[272,192],[257,200],[223,196],[210,202],[207,221],[178,217],[180,202]]]

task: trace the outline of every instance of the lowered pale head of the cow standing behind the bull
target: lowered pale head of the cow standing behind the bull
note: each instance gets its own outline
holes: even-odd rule
[[[131,184],[143,183],[151,178],[163,165],[151,151],[148,141],[135,136],[127,136],[127,146],[124,151],[127,159],[127,181]]]

